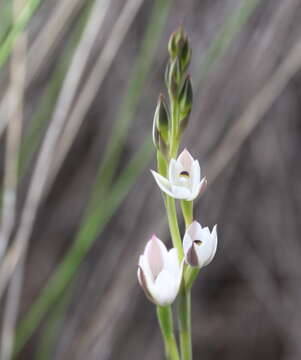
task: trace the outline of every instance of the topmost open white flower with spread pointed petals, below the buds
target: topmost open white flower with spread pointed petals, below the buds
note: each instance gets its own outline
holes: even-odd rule
[[[201,180],[198,160],[194,160],[186,149],[177,160],[170,160],[168,179],[156,171],[151,171],[160,189],[175,199],[192,201],[205,190],[207,185],[206,178]]]

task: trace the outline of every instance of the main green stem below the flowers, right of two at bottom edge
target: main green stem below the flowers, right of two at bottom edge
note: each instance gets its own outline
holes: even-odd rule
[[[181,359],[192,359],[191,346],[191,296],[190,289],[182,287],[178,300]]]

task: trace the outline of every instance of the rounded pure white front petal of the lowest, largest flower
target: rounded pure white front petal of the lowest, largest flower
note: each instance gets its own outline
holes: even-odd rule
[[[178,284],[174,276],[166,270],[161,271],[155,282],[154,300],[160,306],[170,305],[178,294]]]

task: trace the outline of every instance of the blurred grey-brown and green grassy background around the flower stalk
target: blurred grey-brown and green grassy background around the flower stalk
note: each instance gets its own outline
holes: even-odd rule
[[[1,360],[163,359],[136,264],[153,232],[170,244],[149,169],[180,24],[195,217],[219,229],[194,358],[301,358],[300,18],[300,0],[0,0]]]

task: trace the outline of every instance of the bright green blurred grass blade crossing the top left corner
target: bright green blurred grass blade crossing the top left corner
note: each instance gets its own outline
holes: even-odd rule
[[[13,25],[12,29],[10,30],[7,37],[0,46],[0,68],[7,60],[16,38],[28,24],[29,20],[31,19],[35,11],[38,9],[42,1],[43,0],[27,1],[27,4],[24,6],[23,10],[18,16],[16,24]]]

